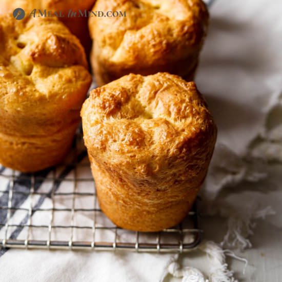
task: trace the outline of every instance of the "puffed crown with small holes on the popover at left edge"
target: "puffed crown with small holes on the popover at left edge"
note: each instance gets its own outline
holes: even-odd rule
[[[46,135],[72,123],[90,83],[83,47],[56,18],[0,16],[1,132]]]

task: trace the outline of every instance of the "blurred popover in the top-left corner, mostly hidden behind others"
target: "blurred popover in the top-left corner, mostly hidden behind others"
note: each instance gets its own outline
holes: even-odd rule
[[[12,14],[15,8],[22,8],[25,10],[26,17],[30,15],[33,9],[41,9],[44,11],[61,12],[64,17],[59,17],[84,46],[88,54],[91,49],[91,39],[88,30],[88,17],[78,17],[78,10],[90,11],[95,3],[95,0],[0,0],[0,14]],[[69,11],[76,12],[76,16],[68,17]]]

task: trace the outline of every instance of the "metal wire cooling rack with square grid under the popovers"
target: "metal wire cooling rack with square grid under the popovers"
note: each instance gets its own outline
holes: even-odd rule
[[[183,252],[201,239],[196,205],[156,233],[116,227],[99,209],[82,134],[64,164],[23,174],[0,167],[0,247]]]

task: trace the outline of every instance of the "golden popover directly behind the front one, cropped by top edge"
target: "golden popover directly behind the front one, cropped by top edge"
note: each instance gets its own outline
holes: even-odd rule
[[[126,12],[89,18],[98,86],[129,73],[160,71],[192,80],[208,23],[202,0],[97,0],[93,10]]]

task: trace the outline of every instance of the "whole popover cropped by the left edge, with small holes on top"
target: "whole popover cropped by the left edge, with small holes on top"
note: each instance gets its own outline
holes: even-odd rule
[[[31,172],[69,150],[91,75],[56,18],[0,16],[0,163]]]

